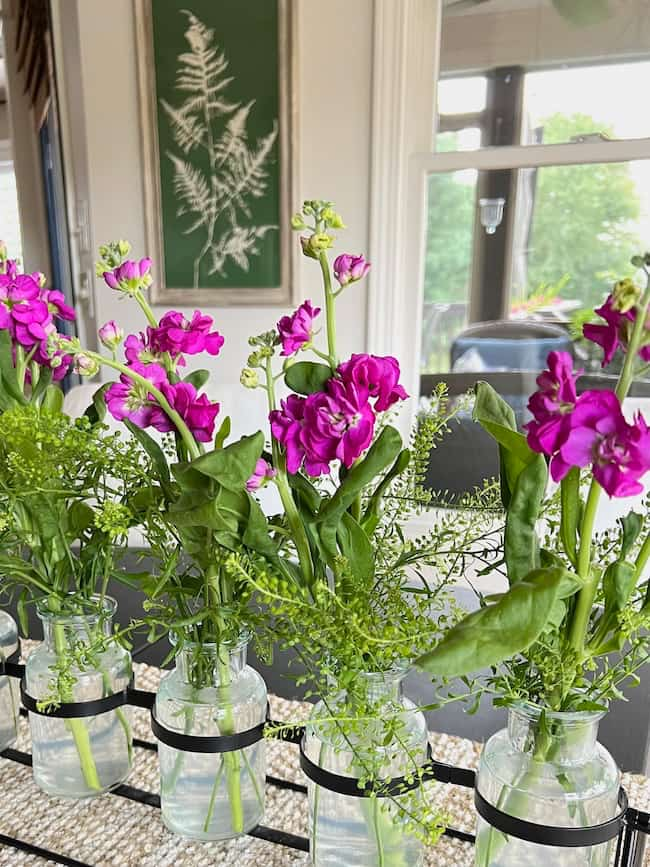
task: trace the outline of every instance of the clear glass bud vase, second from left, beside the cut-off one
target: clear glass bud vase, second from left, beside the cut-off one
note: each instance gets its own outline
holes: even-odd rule
[[[55,614],[44,605],[43,643],[25,667],[27,692],[53,705],[91,701],[124,689],[131,655],[111,640],[114,599],[80,603],[89,613]],[[99,606],[101,605],[101,608]],[[94,608],[94,610],[93,610]],[[98,610],[99,609],[99,610]],[[124,782],[131,770],[132,735],[126,706],[96,716],[61,719],[29,713],[34,780],[50,795],[88,798]]]

